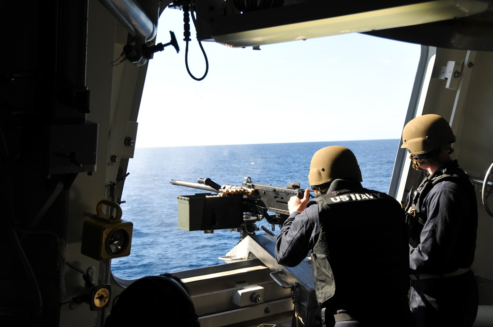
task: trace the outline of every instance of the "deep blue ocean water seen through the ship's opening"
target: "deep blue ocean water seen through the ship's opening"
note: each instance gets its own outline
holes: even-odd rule
[[[121,204],[122,219],[134,224],[131,254],[112,260],[113,274],[135,279],[223,264],[218,258],[238,243],[236,231],[205,234],[178,229],[176,196],[203,191],[172,185],[170,180],[196,183],[198,178],[210,178],[219,185],[241,185],[248,176],[254,183],[284,187],[299,182],[304,189],[310,187],[313,154],[329,145],[350,148],[358,160],[363,186],[387,192],[398,139],[136,149]],[[257,223],[262,226],[270,230],[265,219]],[[274,234],[278,232],[276,226]]]

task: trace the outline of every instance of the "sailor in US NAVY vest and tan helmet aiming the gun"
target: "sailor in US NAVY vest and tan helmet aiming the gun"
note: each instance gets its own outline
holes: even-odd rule
[[[414,326],[400,204],[362,187],[356,157],[343,146],[318,150],[308,179],[316,197],[309,201],[307,189],[303,199],[290,198],[275,256],[282,265],[296,266],[312,251],[323,326]]]

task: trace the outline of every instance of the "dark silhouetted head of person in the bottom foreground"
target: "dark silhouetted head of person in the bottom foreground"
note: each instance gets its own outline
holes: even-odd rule
[[[173,306],[178,309],[173,310],[170,315],[163,314]],[[136,326],[135,323],[145,326],[145,319],[159,321],[157,315],[167,317],[163,320],[163,326],[173,317],[179,326],[200,327],[186,286],[171,274],[146,276],[133,282],[113,300],[111,314],[106,319],[105,327]],[[159,323],[153,323],[153,326],[159,326]]]

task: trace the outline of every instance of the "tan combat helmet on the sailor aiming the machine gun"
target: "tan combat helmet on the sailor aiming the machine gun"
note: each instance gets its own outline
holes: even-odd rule
[[[361,170],[352,151],[340,145],[327,146],[318,150],[310,163],[308,174],[310,185],[322,185],[338,178],[363,181]]]

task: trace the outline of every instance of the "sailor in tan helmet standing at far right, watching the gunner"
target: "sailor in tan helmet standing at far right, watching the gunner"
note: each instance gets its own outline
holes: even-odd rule
[[[448,122],[428,114],[402,131],[413,167],[425,173],[410,197],[411,309],[419,327],[470,327],[478,309],[474,260],[478,209],[474,185],[452,160],[456,137]]]

